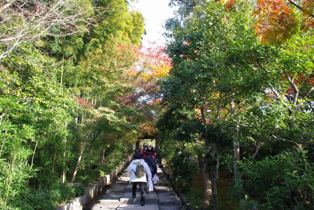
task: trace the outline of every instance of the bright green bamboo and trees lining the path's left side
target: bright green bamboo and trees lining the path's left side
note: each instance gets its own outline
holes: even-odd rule
[[[0,209],[54,209],[141,135],[139,108],[120,98],[135,91],[126,72],[144,19],[125,0],[16,1],[2,12],[16,18],[0,25]],[[63,184],[71,178],[82,187]]]

